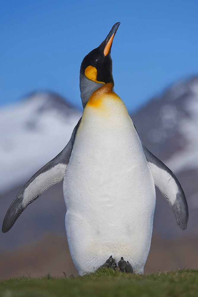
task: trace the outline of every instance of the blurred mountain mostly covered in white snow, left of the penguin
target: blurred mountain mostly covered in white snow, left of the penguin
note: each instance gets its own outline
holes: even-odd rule
[[[81,113],[51,92],[0,109],[0,192],[25,183],[68,143]]]

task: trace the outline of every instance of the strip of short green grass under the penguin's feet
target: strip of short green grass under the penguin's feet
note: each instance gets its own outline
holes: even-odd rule
[[[198,296],[198,270],[159,272],[158,274],[124,274],[100,269],[83,277],[55,279],[13,278],[1,280],[2,297],[192,297]]]

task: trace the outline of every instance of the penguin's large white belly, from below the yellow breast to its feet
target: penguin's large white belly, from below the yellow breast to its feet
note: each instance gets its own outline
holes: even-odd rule
[[[126,113],[83,113],[63,182],[66,232],[79,273],[109,256],[143,272],[151,241],[155,188]]]

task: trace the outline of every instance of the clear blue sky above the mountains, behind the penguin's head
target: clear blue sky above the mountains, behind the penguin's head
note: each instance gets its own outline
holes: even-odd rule
[[[198,74],[198,1],[1,1],[0,105],[35,90],[81,108],[79,69],[116,22],[116,93],[132,111]]]

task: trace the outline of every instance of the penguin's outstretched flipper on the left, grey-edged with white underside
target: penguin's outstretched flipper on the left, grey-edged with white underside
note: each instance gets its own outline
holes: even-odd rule
[[[63,180],[80,121],[81,119],[74,128],[66,147],[54,159],[37,171],[17,194],[5,215],[2,226],[3,233],[12,228],[28,204],[39,198],[49,187]]]

